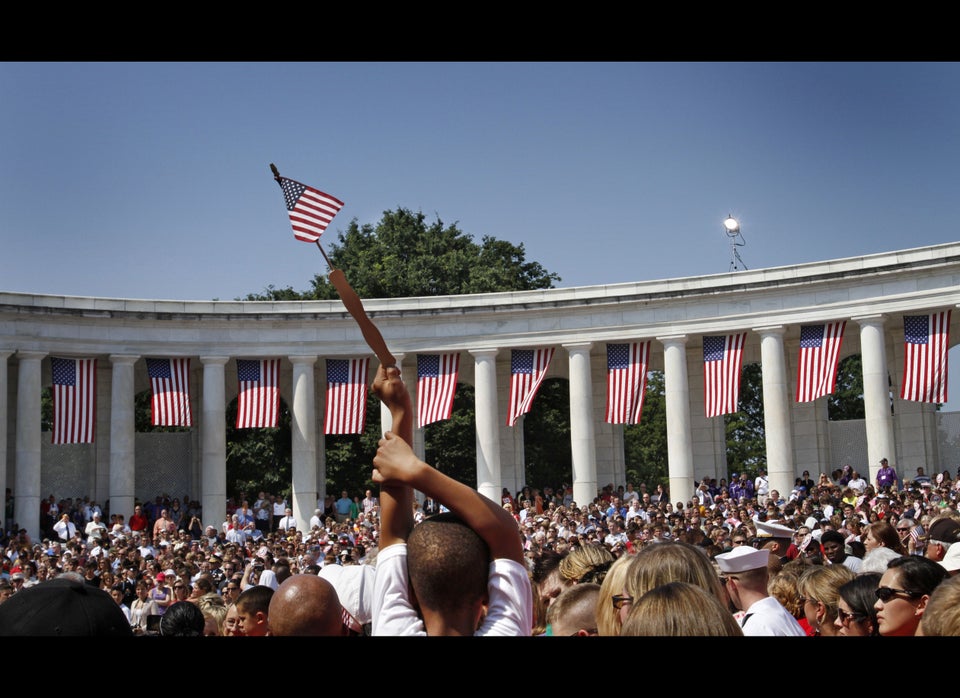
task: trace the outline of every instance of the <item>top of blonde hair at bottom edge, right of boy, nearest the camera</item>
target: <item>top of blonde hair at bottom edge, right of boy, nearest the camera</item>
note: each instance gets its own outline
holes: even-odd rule
[[[690,582],[668,582],[636,599],[621,635],[742,637],[733,614],[709,591]]]

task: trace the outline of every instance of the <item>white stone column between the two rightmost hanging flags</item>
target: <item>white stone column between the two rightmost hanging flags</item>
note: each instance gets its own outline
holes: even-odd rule
[[[853,318],[860,325],[860,355],[863,361],[863,412],[867,429],[867,461],[870,472],[854,466],[867,482],[877,481],[880,459],[896,462],[893,417],[890,414],[890,376],[883,326],[885,315]]]

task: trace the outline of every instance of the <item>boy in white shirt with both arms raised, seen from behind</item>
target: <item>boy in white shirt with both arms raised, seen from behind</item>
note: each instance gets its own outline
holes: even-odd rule
[[[373,460],[383,505],[373,634],[529,636],[533,597],[516,520],[416,457],[410,395],[396,366],[379,367],[373,390],[396,429]],[[414,526],[414,489],[450,514]]]

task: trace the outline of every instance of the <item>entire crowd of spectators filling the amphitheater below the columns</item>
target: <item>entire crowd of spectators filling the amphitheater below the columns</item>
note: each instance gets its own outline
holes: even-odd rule
[[[676,499],[610,483],[581,503],[562,483],[493,502],[414,455],[395,368],[374,390],[393,417],[375,487],[318,502],[303,530],[266,492],[216,523],[189,496],[127,517],[50,495],[41,540],[4,536],[0,635],[960,634],[948,471],[884,459],[872,483],[844,466],[788,493],[760,470]]]

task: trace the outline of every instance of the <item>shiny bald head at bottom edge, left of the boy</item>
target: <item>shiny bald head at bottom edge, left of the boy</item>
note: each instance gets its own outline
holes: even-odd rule
[[[333,585],[313,574],[295,574],[270,599],[271,635],[343,635],[343,609]]]

